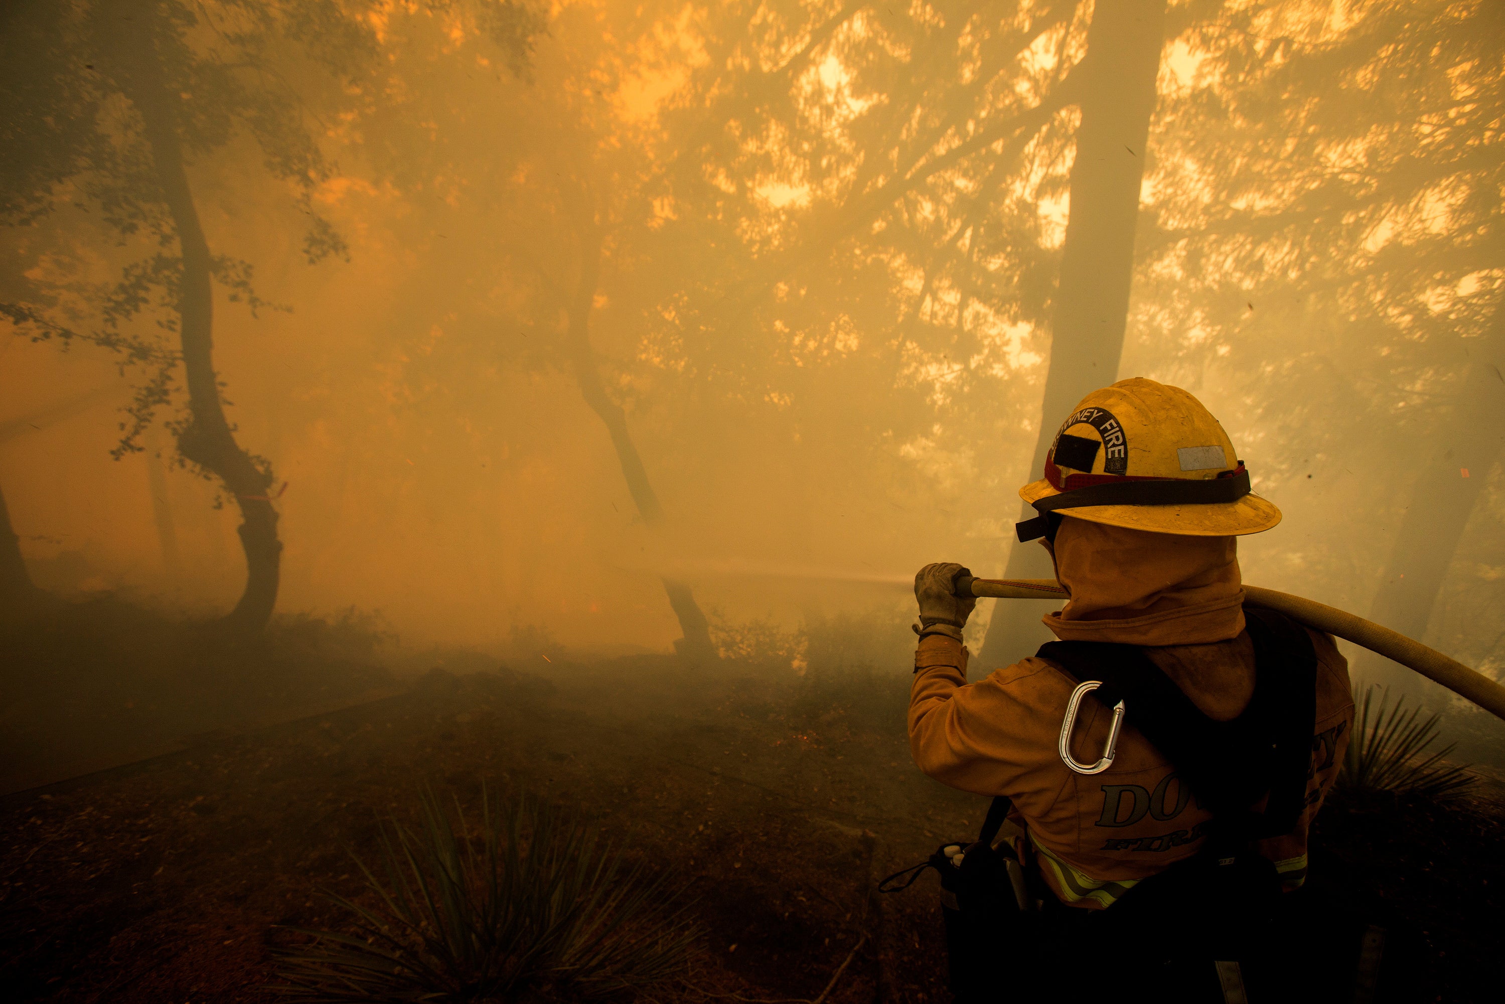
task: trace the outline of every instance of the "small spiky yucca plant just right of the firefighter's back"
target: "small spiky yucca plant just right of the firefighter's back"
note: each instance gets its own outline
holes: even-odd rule
[[[1354,795],[1391,792],[1449,798],[1473,784],[1467,768],[1445,762],[1452,753],[1452,744],[1424,756],[1427,747],[1439,739],[1437,715],[1424,721],[1421,709],[1404,709],[1404,697],[1391,706],[1388,688],[1376,704],[1374,689],[1371,685],[1362,697],[1358,692],[1353,695],[1358,715],[1353,739],[1338,771],[1339,790]]]

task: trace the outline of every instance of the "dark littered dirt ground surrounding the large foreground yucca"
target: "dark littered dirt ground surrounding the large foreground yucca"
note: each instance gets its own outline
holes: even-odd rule
[[[360,893],[349,852],[373,856],[378,820],[424,784],[473,801],[483,778],[581,807],[688,884],[704,938],[686,1001],[813,999],[864,936],[831,1001],[950,999],[935,876],[871,893],[986,808],[909,762],[908,677],[539,668],[432,673],[0,799],[8,999],[272,999],[280,926],[339,923],[318,891]],[[1379,999],[1497,999],[1500,835],[1485,801],[1324,813],[1312,885],[1389,932]]]

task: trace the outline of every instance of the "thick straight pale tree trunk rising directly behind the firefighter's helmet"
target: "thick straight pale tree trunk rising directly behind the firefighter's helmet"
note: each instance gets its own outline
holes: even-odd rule
[[[1099,0],[1087,32],[1082,122],[1072,163],[1070,220],[1061,250],[1061,278],[1050,322],[1050,369],[1041,400],[1031,480],[1041,477],[1057,426],[1093,390],[1118,378],[1129,288],[1133,280],[1135,223],[1144,179],[1145,140],[1154,113],[1156,75],[1165,42],[1165,0]],[[1085,71],[1085,72],[1084,72]],[[1034,516],[1020,507],[1020,519]],[[1054,578],[1044,548],[1014,545],[1008,578]],[[980,653],[990,670],[1032,655],[1052,638],[1040,616],[1052,602],[999,602]]]

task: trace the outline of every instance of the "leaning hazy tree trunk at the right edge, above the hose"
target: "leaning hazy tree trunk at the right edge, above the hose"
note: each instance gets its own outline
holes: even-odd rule
[[[1479,345],[1469,352],[1463,390],[1448,421],[1439,423],[1436,449],[1412,485],[1410,504],[1391,545],[1389,563],[1370,605],[1370,620],[1416,638],[1427,634],[1437,593],[1463,539],[1469,515],[1484,495],[1490,470],[1500,458],[1499,427],[1505,387],[1497,373],[1505,369],[1505,307],[1494,312]],[[1463,476],[1467,471],[1467,477]],[[1406,667],[1382,655],[1361,650],[1354,676],[1394,686],[1430,703],[1446,694]]]

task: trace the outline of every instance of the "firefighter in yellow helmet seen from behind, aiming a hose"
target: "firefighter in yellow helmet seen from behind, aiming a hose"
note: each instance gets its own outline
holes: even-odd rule
[[[1060,641],[968,683],[975,601],[957,586],[969,572],[938,563],[915,577],[915,763],[995,796],[993,832],[941,855],[957,869],[957,998],[999,999],[986,984],[1008,962],[1004,944],[1016,972],[1029,945],[1035,977],[1096,945],[1099,962],[1117,953],[1114,980],[1159,980],[1160,999],[1177,999],[1175,980],[1184,999],[1278,986],[1290,972],[1260,975],[1279,933],[1272,890],[1305,882],[1308,829],[1353,727],[1332,638],[1243,605],[1237,537],[1275,527],[1279,510],[1251,494],[1192,394],[1139,378],[1088,394],[1019,495],[1038,512],[1020,540],[1040,539],[1069,593],[1044,617]],[[1005,875],[995,853],[1016,888],[995,878],[989,900],[987,875]],[[968,914],[969,897],[992,912]]]

